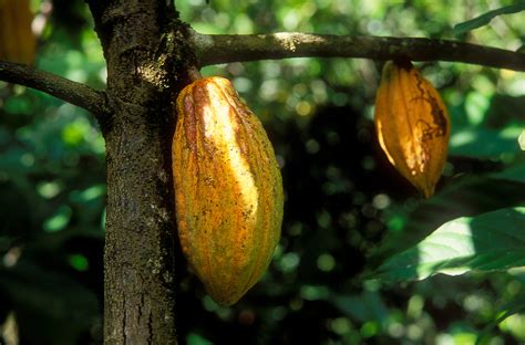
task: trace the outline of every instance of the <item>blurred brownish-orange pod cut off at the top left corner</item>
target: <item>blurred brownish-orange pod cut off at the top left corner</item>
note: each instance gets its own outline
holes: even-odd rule
[[[30,0],[0,0],[0,60],[32,64],[37,46]]]

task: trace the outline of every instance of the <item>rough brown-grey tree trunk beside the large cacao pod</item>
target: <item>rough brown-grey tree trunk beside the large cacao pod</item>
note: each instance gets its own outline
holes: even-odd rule
[[[158,63],[162,33],[176,15],[169,2],[89,1],[112,111],[101,123],[107,155],[104,344],[176,343],[173,91]]]

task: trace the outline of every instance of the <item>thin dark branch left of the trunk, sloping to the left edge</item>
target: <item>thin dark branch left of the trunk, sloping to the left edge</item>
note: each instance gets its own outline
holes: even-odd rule
[[[99,119],[109,113],[104,92],[27,65],[0,61],[0,81],[42,91],[83,107]]]

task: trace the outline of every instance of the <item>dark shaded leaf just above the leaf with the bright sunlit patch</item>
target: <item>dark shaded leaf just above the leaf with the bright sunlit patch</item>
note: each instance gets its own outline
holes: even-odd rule
[[[459,217],[474,217],[496,209],[525,206],[523,182],[509,177],[460,176],[428,200],[409,200],[391,209],[389,232],[368,258],[375,270],[395,253],[416,245],[441,224]]]

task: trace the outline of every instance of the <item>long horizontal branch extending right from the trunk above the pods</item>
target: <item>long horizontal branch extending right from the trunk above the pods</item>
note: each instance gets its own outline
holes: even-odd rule
[[[286,58],[453,61],[525,71],[525,54],[447,40],[298,32],[208,35],[192,32],[199,65]]]

